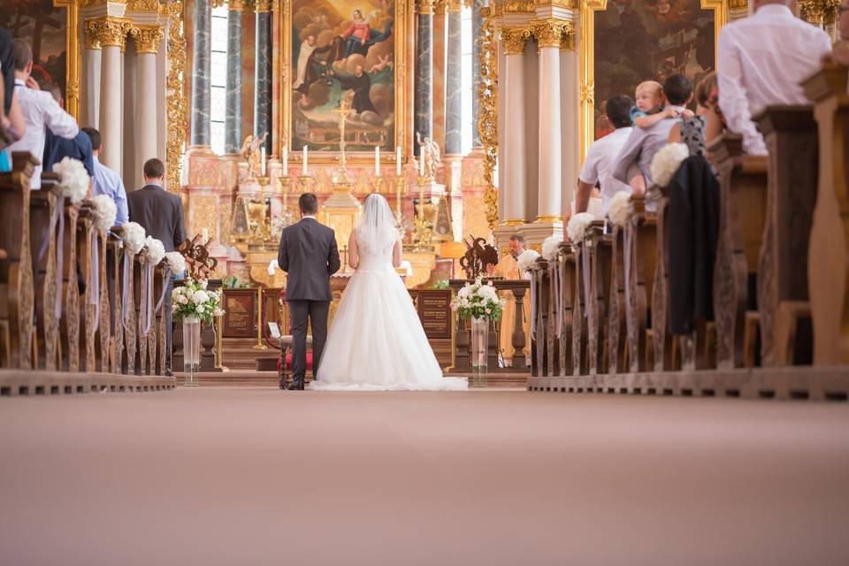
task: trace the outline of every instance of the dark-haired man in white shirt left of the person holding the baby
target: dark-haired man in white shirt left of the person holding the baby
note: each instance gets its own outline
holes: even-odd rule
[[[631,194],[631,187],[621,180],[613,178],[613,166],[616,157],[631,135],[631,108],[634,101],[630,96],[613,96],[605,104],[604,113],[610,124],[616,128],[610,134],[593,142],[586,152],[584,166],[577,179],[577,195],[575,196],[575,211],[586,212],[590,203],[590,194],[598,183],[601,187],[601,204],[605,215],[613,195],[620,191]]]

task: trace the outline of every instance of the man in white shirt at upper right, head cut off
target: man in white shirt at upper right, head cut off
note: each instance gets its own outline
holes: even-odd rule
[[[831,50],[819,27],[793,16],[792,0],[753,0],[754,14],[723,27],[719,34],[719,107],[743,149],[767,155],[752,115],[769,104],[809,104],[799,82],[815,73]]]

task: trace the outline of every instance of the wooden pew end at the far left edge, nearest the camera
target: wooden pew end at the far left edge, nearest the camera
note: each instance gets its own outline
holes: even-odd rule
[[[11,172],[0,173],[0,325],[4,367],[34,367],[34,273],[30,235],[29,181],[37,161],[28,153],[12,154]]]

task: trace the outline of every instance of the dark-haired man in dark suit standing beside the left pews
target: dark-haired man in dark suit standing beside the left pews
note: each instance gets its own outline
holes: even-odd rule
[[[186,240],[183,226],[183,203],[180,197],[164,189],[165,165],[153,157],[144,162],[144,187],[127,195],[130,220],[142,225],[149,236],[162,241],[165,251],[174,251]],[[165,375],[171,376],[171,280],[165,289]]]

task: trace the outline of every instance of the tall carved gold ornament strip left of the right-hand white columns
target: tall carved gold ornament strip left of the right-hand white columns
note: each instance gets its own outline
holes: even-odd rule
[[[484,148],[484,203],[486,223],[490,230],[498,226],[498,189],[495,187],[495,164],[498,159],[498,50],[495,38],[495,11],[483,8],[480,42],[480,84],[478,100],[478,134]],[[523,45],[524,49],[524,45]]]

